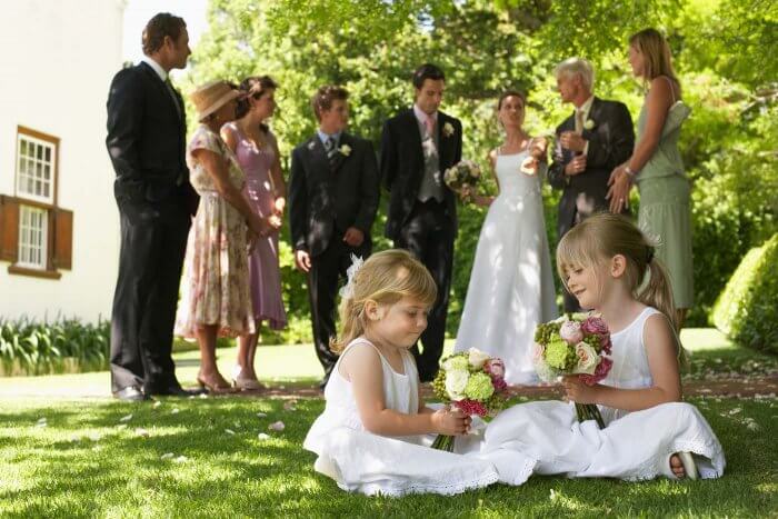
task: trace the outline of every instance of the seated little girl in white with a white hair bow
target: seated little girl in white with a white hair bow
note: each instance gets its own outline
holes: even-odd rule
[[[340,358],[325,389],[325,411],[303,447],[318,455],[315,469],[343,490],[367,495],[459,493],[495,481],[521,485],[533,462],[497,449],[480,455],[479,440],[459,452],[431,449],[433,435],[468,432],[459,410],[433,410],[419,393],[409,348],[427,328],[436,299],[427,269],[403,250],[365,263],[355,259],[340,305],[342,332],[332,341]]]

